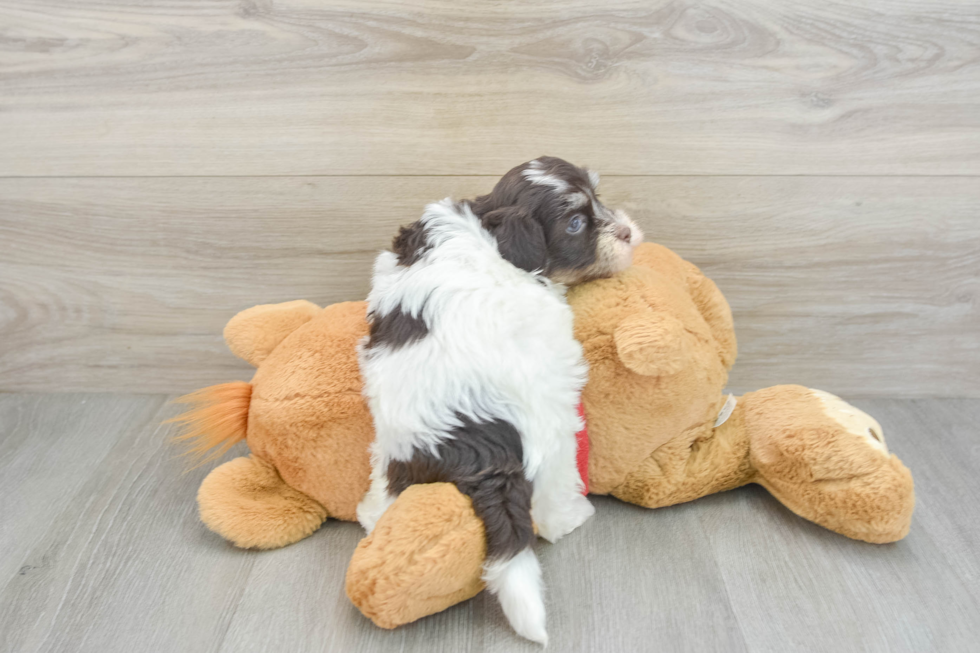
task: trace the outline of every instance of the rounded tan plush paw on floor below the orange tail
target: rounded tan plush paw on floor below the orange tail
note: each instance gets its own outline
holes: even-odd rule
[[[212,470],[201,483],[197,503],[201,521],[242,548],[298,542],[327,518],[323,506],[286,485],[275,467],[254,454]]]

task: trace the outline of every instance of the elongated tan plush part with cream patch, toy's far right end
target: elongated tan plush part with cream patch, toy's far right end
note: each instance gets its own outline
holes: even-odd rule
[[[796,514],[847,537],[894,542],[908,533],[912,475],[888,453],[869,415],[802,386],[742,397],[756,482]]]

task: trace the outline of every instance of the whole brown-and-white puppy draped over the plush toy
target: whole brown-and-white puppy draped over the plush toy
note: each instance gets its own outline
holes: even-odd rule
[[[565,287],[623,270],[642,240],[597,184],[542,157],[489,195],[427,206],[377,258],[359,350],[377,436],[358,520],[370,532],[409,485],[455,483],[486,527],[487,587],[541,643],[533,525],[554,542],[593,513],[575,464],[587,367]]]

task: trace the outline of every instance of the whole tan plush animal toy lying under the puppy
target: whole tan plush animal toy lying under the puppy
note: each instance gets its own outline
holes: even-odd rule
[[[736,357],[717,286],[666,247],[641,244],[633,266],[568,291],[589,363],[583,391],[588,487],[648,508],[765,487],[797,515],[872,543],[904,537],[912,476],[880,425],[819,390],[780,385],[724,394]],[[175,418],[199,452],[242,439],[250,455],[201,484],[202,521],[237,546],[285,546],[327,517],[354,520],[369,485],[371,417],[357,343],[363,302],[306,301],[236,315],[225,340],[256,366],[251,383],[205,388]],[[393,628],[482,590],[483,526],[445,483],[403,492],[358,545],[351,601]]]

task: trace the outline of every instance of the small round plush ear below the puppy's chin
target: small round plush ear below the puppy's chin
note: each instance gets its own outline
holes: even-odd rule
[[[627,317],[613,332],[619,360],[644,376],[675,374],[684,367],[684,325],[664,313],[645,308]]]

